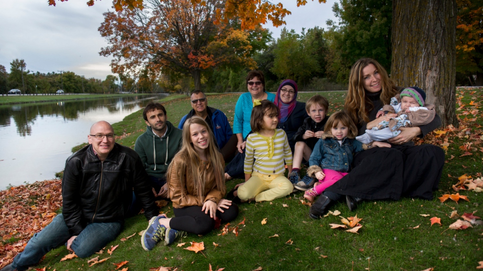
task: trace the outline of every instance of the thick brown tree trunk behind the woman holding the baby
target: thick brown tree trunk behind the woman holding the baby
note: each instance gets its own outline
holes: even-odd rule
[[[455,34],[455,0],[392,1],[391,78],[422,88],[443,126],[457,127]]]

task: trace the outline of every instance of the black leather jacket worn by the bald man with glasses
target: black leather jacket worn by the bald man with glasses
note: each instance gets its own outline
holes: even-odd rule
[[[147,219],[158,215],[142,162],[134,150],[117,143],[101,162],[87,145],[65,162],[62,215],[71,235],[90,223],[124,222],[132,189]]]

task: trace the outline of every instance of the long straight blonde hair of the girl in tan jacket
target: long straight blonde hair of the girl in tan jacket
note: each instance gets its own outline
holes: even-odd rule
[[[181,183],[186,182],[186,174],[190,174],[193,179],[194,183],[194,194],[192,196],[198,197],[199,199],[203,200],[204,196],[203,191],[204,191],[204,186],[206,183],[205,179],[205,170],[200,170],[199,164],[200,164],[200,158],[198,153],[196,153],[196,150],[194,150],[193,144],[190,142],[191,139],[191,133],[189,131],[189,126],[191,124],[199,124],[201,126],[204,126],[206,130],[208,131],[209,134],[209,143],[208,143],[208,148],[205,149],[205,154],[206,158],[208,160],[208,165],[213,167],[213,172],[214,172],[214,179],[216,182],[216,187],[218,190],[221,192],[222,195],[226,193],[226,187],[224,184],[224,163],[222,162],[221,154],[218,152],[218,149],[216,148],[216,144],[214,143],[214,135],[211,129],[209,128],[208,124],[206,121],[204,121],[202,118],[198,116],[193,116],[184,122],[183,125],[183,133],[182,133],[182,147],[179,150],[179,152],[174,156],[173,160],[176,159],[177,156],[179,156],[182,161],[181,163],[181,169],[177,170],[174,174],[180,174],[180,179]],[[169,180],[171,179],[170,174],[171,174],[171,168],[174,163],[170,163],[169,167],[167,169],[167,174],[166,174],[166,180],[169,183]],[[182,188],[182,194],[183,196],[186,195],[186,190],[183,187]]]

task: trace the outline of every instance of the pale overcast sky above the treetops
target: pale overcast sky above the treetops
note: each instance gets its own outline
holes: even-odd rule
[[[335,0],[326,3],[308,1],[296,6],[296,0],[282,0],[292,12],[285,17],[287,29],[299,33],[302,27],[327,28],[327,19],[336,20],[332,12]],[[272,2],[277,2],[276,0]],[[10,70],[10,62],[24,59],[27,69],[42,73],[73,71],[87,78],[105,79],[110,72],[110,58],[99,56],[107,46],[97,31],[103,21],[102,13],[111,8],[112,1],[96,0],[87,6],[86,0],[69,0],[49,6],[46,0],[2,1],[0,8],[0,64]],[[264,27],[279,37],[283,26]]]

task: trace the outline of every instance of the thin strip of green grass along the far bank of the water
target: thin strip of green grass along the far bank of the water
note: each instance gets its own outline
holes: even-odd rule
[[[32,102],[54,102],[54,101],[66,101],[66,100],[84,100],[84,99],[100,99],[100,98],[113,98],[113,97],[126,97],[126,96],[139,96],[139,95],[153,95],[151,93],[145,94],[73,94],[73,95],[8,95],[0,96],[0,105],[2,104],[15,104],[15,103],[32,103]]]

